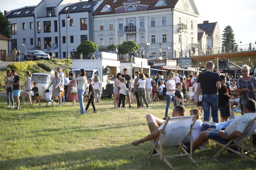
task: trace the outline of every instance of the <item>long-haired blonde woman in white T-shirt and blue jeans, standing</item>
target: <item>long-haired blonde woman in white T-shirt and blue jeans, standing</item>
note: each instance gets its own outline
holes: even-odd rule
[[[171,104],[171,100],[172,100],[172,96],[174,95],[176,89],[175,89],[175,81],[173,80],[174,78],[174,72],[170,72],[169,76],[168,76],[168,81],[166,82],[166,108],[165,108],[165,116],[164,116],[164,120],[167,119],[168,117],[168,111],[169,111],[169,107]]]

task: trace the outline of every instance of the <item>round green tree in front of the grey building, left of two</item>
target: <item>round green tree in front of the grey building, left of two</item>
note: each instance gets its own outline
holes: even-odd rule
[[[92,41],[82,41],[80,45],[76,48],[77,54],[88,55],[90,53],[94,53],[97,50],[97,45]]]

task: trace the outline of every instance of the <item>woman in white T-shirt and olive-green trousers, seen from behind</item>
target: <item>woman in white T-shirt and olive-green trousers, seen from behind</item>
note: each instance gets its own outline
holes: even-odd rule
[[[139,81],[138,83],[136,83],[136,86],[138,86],[138,95],[139,95],[139,101],[141,104],[141,107],[144,108],[143,105],[143,101],[145,102],[147,109],[149,109],[148,107],[148,101],[146,99],[146,78],[145,75],[143,73],[139,73]],[[142,100],[143,99],[143,100]]]

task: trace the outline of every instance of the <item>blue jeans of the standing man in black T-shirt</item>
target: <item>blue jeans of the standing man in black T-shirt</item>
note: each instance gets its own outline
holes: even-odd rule
[[[219,98],[217,94],[212,95],[203,95],[202,96],[202,105],[204,112],[204,121],[209,121],[210,116],[210,106],[212,108],[212,122],[218,123],[218,107],[219,107]]]

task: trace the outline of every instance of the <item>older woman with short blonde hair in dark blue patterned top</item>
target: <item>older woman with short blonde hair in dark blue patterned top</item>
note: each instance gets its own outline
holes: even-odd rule
[[[239,102],[240,102],[241,113],[243,115],[244,104],[246,99],[252,98],[255,101],[254,87],[256,85],[256,79],[254,76],[249,75],[250,67],[247,65],[242,66],[241,72],[243,74],[243,77],[238,78],[236,91],[237,93],[240,93]]]

